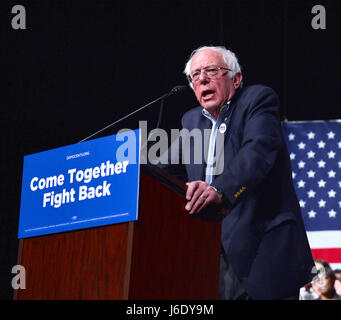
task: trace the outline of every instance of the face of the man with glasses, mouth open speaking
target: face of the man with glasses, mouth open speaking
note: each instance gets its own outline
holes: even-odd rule
[[[227,68],[219,52],[206,49],[194,55],[191,62],[190,73],[200,71],[207,67]],[[235,94],[241,81],[241,74],[238,79],[230,79],[228,70],[219,70],[214,78],[207,77],[203,72],[199,80],[193,82],[193,89],[200,105],[211,114],[219,113],[220,108],[228,102]]]

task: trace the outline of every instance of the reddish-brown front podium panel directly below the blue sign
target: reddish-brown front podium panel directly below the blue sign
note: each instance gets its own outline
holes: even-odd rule
[[[18,264],[26,269],[26,289],[17,290],[16,298],[126,299],[131,226],[21,239]]]

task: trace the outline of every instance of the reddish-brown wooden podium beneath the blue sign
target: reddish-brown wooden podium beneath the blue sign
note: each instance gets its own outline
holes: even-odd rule
[[[142,166],[137,221],[20,239],[14,299],[217,299],[221,224],[190,216],[184,193]]]

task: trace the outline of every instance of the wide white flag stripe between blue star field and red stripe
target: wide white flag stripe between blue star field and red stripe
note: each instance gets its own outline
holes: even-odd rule
[[[308,241],[311,249],[340,248],[341,231],[308,231]]]

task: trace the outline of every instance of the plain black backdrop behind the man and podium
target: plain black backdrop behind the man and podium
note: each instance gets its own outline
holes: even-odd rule
[[[13,30],[11,8],[26,8]],[[326,30],[311,27],[314,5]],[[288,120],[340,118],[341,2],[1,1],[0,299],[12,299],[24,155],[72,144],[186,84],[191,51],[224,45],[244,84],[276,90]],[[193,93],[169,97],[162,127],[178,128]],[[102,135],[156,124],[159,104]]]

